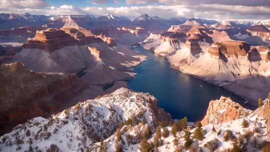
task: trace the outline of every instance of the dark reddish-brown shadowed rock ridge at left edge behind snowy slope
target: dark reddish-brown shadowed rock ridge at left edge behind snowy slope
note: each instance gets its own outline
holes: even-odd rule
[[[79,89],[75,74],[37,73],[21,62],[1,64],[0,77],[0,133],[29,118],[55,112],[74,96],[72,89]]]

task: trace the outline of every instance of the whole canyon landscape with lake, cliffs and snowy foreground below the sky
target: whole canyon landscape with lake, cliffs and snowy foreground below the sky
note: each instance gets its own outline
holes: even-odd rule
[[[267,20],[0,13],[0,151],[269,151],[269,33]]]

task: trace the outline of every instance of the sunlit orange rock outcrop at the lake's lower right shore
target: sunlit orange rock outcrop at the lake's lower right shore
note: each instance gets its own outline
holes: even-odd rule
[[[202,125],[220,124],[230,122],[251,113],[251,110],[245,109],[240,104],[233,102],[230,98],[221,96],[217,100],[211,100],[204,118],[201,120]]]

